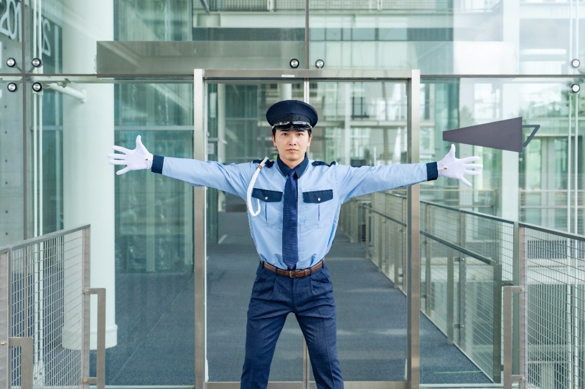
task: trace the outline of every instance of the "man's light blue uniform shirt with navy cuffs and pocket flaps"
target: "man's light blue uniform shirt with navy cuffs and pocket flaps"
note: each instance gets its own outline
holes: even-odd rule
[[[194,186],[209,186],[246,199],[247,188],[260,161],[222,165],[197,159],[154,156],[152,171]],[[252,204],[260,200],[260,213],[248,213],[250,232],[262,261],[287,269],[282,255],[283,191],[288,166],[268,161],[259,172]],[[309,268],[325,257],[333,244],[341,204],[352,197],[408,186],[437,178],[436,162],[353,167],[305,160],[298,175],[297,269]]]

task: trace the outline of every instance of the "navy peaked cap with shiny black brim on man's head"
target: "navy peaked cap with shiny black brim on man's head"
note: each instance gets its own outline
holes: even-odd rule
[[[299,100],[279,101],[266,111],[266,120],[277,129],[311,130],[317,119],[315,108]]]

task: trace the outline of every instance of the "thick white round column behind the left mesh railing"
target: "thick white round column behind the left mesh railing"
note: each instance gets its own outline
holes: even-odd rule
[[[95,73],[96,42],[113,40],[113,1],[63,1],[63,73]],[[106,289],[106,347],[118,342],[115,318],[113,85],[84,88],[87,101],[63,96],[64,228],[91,224],[91,287]],[[92,301],[91,348],[97,344]]]

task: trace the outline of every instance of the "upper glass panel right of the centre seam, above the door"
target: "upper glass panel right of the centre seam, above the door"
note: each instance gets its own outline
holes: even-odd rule
[[[574,48],[583,45],[583,20],[569,12],[569,1],[541,3],[311,1],[309,64],[321,59],[326,68],[421,74],[572,74],[569,60],[583,51]]]

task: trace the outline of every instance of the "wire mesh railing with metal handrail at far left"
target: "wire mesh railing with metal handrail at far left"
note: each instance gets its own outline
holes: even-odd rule
[[[81,233],[80,233],[81,232]],[[71,239],[69,239],[71,238]],[[55,244],[47,244],[47,242],[53,242]],[[76,242],[76,243],[74,243]],[[81,247],[82,252],[77,252],[75,255],[68,255],[63,256],[63,252],[66,250],[67,245],[77,244],[76,247]],[[49,261],[47,261],[47,259]],[[56,259],[56,261],[51,261],[50,259]],[[68,363],[68,371],[70,371],[70,376],[64,375],[61,378],[68,379],[68,377],[79,378],[78,384],[80,387],[88,388],[90,383],[97,384],[98,389],[104,388],[105,383],[105,363],[104,363],[104,355],[105,355],[105,289],[90,289],[88,284],[90,282],[90,225],[80,225],[78,227],[73,227],[67,230],[61,230],[56,232],[51,232],[49,234],[45,234],[39,237],[27,239],[25,241],[16,242],[12,245],[6,245],[0,247],[0,389],[8,389],[11,387],[10,377],[12,376],[11,372],[11,355],[9,353],[9,349],[13,347],[20,347],[20,387],[23,389],[32,389],[33,388],[33,374],[37,374],[37,359],[40,361],[43,359],[43,363],[51,363],[53,360],[44,361],[44,344],[39,339],[43,339],[43,331],[47,328],[46,324],[44,323],[45,315],[43,313],[44,305],[38,303],[43,299],[43,293],[46,290],[50,289],[51,296],[58,296],[58,294],[54,293],[54,288],[61,288],[64,290],[67,288],[66,277],[70,277],[68,280],[73,280],[75,285],[77,282],[81,282],[82,287],[84,289],[77,290],[73,289],[70,290],[70,296],[74,300],[77,298],[82,298],[82,293],[97,293],[98,294],[98,360],[97,360],[97,377],[96,378],[85,378],[88,376],[89,368],[85,363],[89,363],[90,360],[90,351],[89,351],[89,335],[90,335],[90,328],[89,322],[87,321],[87,325],[82,326],[81,333],[84,335],[83,344],[75,343],[78,338],[75,336],[71,336],[71,343],[68,343],[69,347],[71,346],[73,349],[75,347],[80,346],[82,350],[82,355],[75,355],[74,358],[77,358],[79,363],[80,370],[76,371],[77,363]],[[59,280],[55,280],[54,277],[44,277],[44,272],[46,269],[49,269],[51,266],[60,266],[63,265],[64,261],[73,261],[67,262],[66,269],[64,273],[70,271],[69,276],[63,275],[63,279],[61,279],[62,283],[59,283]],[[15,265],[16,264],[16,265]],[[73,266],[71,266],[73,265]],[[29,335],[29,331],[23,331],[20,327],[14,327],[15,322],[22,322],[22,321],[14,321],[12,319],[13,315],[19,315],[20,311],[16,312],[15,307],[18,307],[19,301],[18,299],[13,300],[13,294],[16,292],[13,290],[19,290],[19,281],[15,280],[15,275],[19,277],[27,277],[33,276],[34,282],[36,284],[35,290],[31,291],[30,296],[32,297],[33,304],[39,304],[39,306],[35,305],[34,310],[36,312],[35,315],[30,316],[28,313],[25,313],[27,316],[26,318],[30,317],[30,321],[33,324],[34,329],[32,329],[33,334],[32,336]],[[77,277],[77,278],[76,278]],[[73,283],[69,284],[73,285]],[[76,293],[79,293],[76,295]],[[29,296],[29,294],[26,294]],[[25,296],[25,300],[26,300]],[[76,297],[80,296],[80,297]],[[19,297],[20,298],[20,297]],[[55,297],[58,298],[58,297]],[[85,305],[86,308],[89,307],[89,296],[86,296],[84,301],[80,302],[80,305]],[[29,297],[30,300],[30,297]],[[63,300],[63,299],[61,299]],[[79,301],[79,300],[77,300]],[[60,305],[60,315],[71,314],[75,315],[74,312],[75,307],[80,305],[71,305],[71,310],[68,310],[67,304],[69,303],[64,302],[64,305]],[[15,305],[16,304],[16,305]],[[20,308],[19,308],[20,309]],[[13,312],[14,311],[14,312]],[[29,312],[27,310],[26,312]],[[84,315],[88,315],[88,309],[84,311]],[[61,317],[63,318],[63,317]],[[56,320],[53,320],[53,326],[56,326]],[[77,328],[77,327],[75,327]],[[51,327],[51,331],[56,331],[54,327]],[[61,331],[64,331],[61,328]],[[73,332],[77,333],[77,329]],[[61,334],[61,342],[65,342],[63,340],[63,334]],[[10,336],[10,335],[25,335],[25,336]],[[87,341],[86,341],[87,340]],[[33,365],[34,364],[34,365]],[[73,367],[72,367],[73,366]],[[13,368],[13,367],[12,367]],[[62,374],[66,374],[61,372]],[[42,374],[40,374],[40,379],[42,379]],[[34,379],[38,379],[35,376]],[[36,385],[44,385],[43,382],[37,382]],[[72,388],[75,387],[74,385],[71,386]]]

